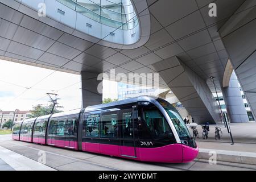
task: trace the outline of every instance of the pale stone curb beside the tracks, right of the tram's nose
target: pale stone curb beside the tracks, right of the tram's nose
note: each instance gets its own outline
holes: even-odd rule
[[[211,154],[209,154],[209,152]],[[200,148],[197,159],[209,160],[209,158],[212,156],[212,152],[216,152],[218,161],[256,165],[256,153],[254,152],[238,152]]]

